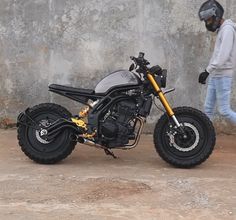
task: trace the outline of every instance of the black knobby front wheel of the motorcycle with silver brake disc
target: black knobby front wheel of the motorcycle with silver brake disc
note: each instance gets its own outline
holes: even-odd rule
[[[166,114],[162,115],[154,130],[154,144],[162,159],[169,164],[191,168],[204,162],[215,146],[215,129],[209,118],[201,111],[190,107],[173,109],[187,138],[176,132],[176,125]]]

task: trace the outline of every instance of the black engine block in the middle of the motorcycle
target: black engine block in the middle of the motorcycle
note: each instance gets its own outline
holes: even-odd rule
[[[101,122],[100,134],[108,147],[124,146],[134,139],[134,125],[137,106],[134,100],[124,100],[116,103],[104,116]]]

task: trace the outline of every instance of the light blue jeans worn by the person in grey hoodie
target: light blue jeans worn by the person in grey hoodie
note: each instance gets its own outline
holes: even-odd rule
[[[219,113],[232,123],[236,124],[236,112],[230,107],[232,77],[210,77],[205,100],[205,113],[213,120],[215,106]]]

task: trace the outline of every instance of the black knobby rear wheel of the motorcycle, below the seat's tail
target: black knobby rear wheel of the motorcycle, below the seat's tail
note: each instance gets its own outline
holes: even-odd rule
[[[64,107],[43,103],[29,109],[29,116],[37,123],[49,126],[59,118],[70,118],[71,113]],[[26,118],[26,121],[29,119]],[[23,124],[19,124],[17,138],[21,150],[30,159],[41,164],[54,164],[71,154],[76,142],[72,140],[72,131],[65,129],[50,142],[40,137],[39,130]]]

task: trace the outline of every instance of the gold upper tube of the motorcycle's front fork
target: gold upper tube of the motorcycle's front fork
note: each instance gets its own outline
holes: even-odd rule
[[[155,91],[158,93],[161,103],[164,106],[164,108],[166,109],[166,112],[168,113],[169,116],[173,116],[174,112],[173,112],[172,108],[170,107],[170,104],[168,103],[163,92],[161,91],[160,87],[158,86],[156,80],[154,79],[154,77],[150,73],[147,74],[147,77],[148,77],[149,81],[151,82]]]

